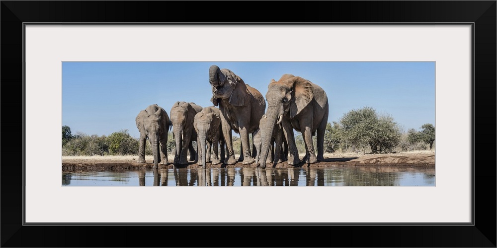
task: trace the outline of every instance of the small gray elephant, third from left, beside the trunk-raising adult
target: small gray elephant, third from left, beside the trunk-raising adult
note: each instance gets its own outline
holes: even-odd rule
[[[202,165],[205,167],[206,162],[209,162],[213,165],[220,164],[221,161],[218,157],[218,145],[221,148],[221,159],[225,158],[225,144],[220,116],[221,112],[219,111],[219,109],[213,106],[205,107],[202,109],[202,111],[200,111],[200,113],[195,115],[193,127],[197,132],[197,144],[200,146],[200,149],[198,150],[198,165]],[[205,148],[206,145],[207,149]],[[211,147],[213,150],[212,161]]]

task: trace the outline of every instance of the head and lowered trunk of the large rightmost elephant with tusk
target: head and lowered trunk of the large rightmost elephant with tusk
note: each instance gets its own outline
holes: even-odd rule
[[[266,93],[267,122],[280,124],[283,119],[290,121],[298,116],[313,98],[313,86],[309,80],[292,74],[284,74],[277,82],[271,80]],[[275,125],[268,124],[261,128],[261,168],[266,167],[265,161],[274,127]]]

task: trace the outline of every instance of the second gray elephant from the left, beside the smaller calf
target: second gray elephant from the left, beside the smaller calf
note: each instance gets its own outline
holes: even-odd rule
[[[202,110],[202,107],[195,103],[176,102],[172,105],[170,117],[172,133],[176,142],[174,154],[174,165],[186,165],[187,150],[190,152],[190,161],[197,163],[198,154],[193,148],[193,141],[197,140],[197,132],[193,128],[195,115]],[[198,148],[197,148],[198,149]]]

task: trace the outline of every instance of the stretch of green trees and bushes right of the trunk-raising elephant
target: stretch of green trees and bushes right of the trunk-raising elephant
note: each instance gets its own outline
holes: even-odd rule
[[[390,115],[379,115],[374,108],[364,107],[349,111],[338,122],[327,124],[324,150],[325,153],[365,154],[433,149],[435,127],[423,124],[420,128],[420,131],[411,128],[405,132]],[[313,141],[317,147],[316,136],[313,136]],[[295,143],[299,153],[304,153],[301,134],[296,136]]]

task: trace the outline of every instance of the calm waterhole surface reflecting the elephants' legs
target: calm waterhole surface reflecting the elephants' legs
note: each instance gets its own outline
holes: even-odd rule
[[[204,178],[205,174],[205,178]],[[63,186],[435,186],[435,169],[211,168],[62,173]]]

